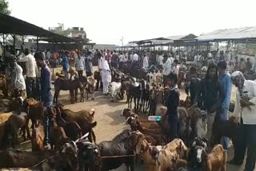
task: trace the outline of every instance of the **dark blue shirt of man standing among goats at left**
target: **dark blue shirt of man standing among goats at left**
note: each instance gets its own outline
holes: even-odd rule
[[[51,95],[50,93],[51,72],[48,66],[44,66],[41,69],[40,84],[41,84],[41,100],[44,101],[47,96]]]

